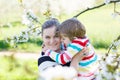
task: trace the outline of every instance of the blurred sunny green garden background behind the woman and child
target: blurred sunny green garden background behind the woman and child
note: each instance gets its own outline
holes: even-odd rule
[[[77,1],[74,0],[74,3],[76,4]],[[83,4],[85,3],[84,0],[81,1]],[[89,6],[104,2],[104,0],[87,1],[85,5]],[[41,10],[42,7],[46,6],[43,2],[43,0],[23,0],[24,5],[27,5],[26,8],[31,9],[37,15],[41,24],[47,20],[46,15],[43,15]],[[55,0],[51,0],[51,3],[54,5],[53,9],[56,9],[55,7],[59,2],[55,3]],[[64,1],[61,3],[67,5]],[[87,35],[96,52],[100,55],[107,52],[110,44],[120,34],[120,15],[117,17],[113,15],[113,5],[105,5],[78,16],[78,19],[86,26]],[[50,5],[47,6],[49,9]],[[62,22],[84,9],[80,6],[74,7],[72,5],[70,7],[67,5],[67,7],[64,6],[60,9],[59,14],[57,14],[57,10],[55,10],[55,14],[51,14]],[[117,10],[120,10],[120,5],[117,5]],[[18,43],[17,47],[6,42],[7,37],[18,35],[27,28],[26,25],[22,24],[23,11],[20,0],[0,0],[0,80],[36,80],[38,77],[37,59],[41,51],[41,36],[31,36],[27,42]],[[41,25],[39,25],[39,29],[40,27]]]

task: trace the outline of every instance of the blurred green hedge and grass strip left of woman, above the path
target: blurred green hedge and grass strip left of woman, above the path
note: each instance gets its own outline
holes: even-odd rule
[[[43,41],[38,38],[30,38],[27,43],[21,42],[16,47],[11,47],[5,40],[0,40],[0,50],[20,51],[20,52],[40,52]]]

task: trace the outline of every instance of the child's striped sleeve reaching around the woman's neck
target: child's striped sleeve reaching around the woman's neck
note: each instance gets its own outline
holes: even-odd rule
[[[62,51],[61,53],[54,52],[52,50],[47,50],[45,54],[50,56],[53,60],[60,64],[66,64],[69,62],[72,57],[80,52],[84,46],[86,46],[88,41],[80,42],[79,40],[72,41],[71,44],[67,47],[67,50]]]

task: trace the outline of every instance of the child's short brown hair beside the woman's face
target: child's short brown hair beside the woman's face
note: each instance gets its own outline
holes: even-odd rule
[[[70,40],[73,40],[74,37],[83,38],[86,34],[84,25],[76,18],[71,18],[62,22],[59,27],[59,31],[64,36],[69,37]]]

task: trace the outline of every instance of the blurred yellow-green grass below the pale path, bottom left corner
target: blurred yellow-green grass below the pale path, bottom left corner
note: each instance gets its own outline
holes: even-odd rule
[[[0,57],[0,80],[36,80],[38,77],[37,61],[13,57]]]

